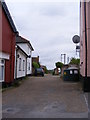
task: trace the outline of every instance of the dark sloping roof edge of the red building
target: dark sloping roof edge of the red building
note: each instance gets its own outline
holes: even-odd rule
[[[12,17],[11,17],[11,15],[10,15],[10,12],[9,12],[9,10],[8,10],[8,7],[7,7],[6,3],[3,1],[3,2],[1,2],[1,4],[2,4],[2,8],[3,8],[3,10],[4,10],[4,13],[5,13],[5,15],[6,15],[8,21],[9,21],[9,24],[10,24],[13,32],[14,32],[14,33],[18,33],[18,31],[17,31],[17,29],[16,29],[16,27],[15,27],[15,25],[14,25],[14,22],[13,22],[13,20],[12,20]]]

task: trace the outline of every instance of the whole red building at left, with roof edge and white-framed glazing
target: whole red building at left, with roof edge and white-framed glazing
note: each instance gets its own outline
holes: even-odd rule
[[[5,2],[0,2],[0,82],[14,80],[15,39],[18,33]]]

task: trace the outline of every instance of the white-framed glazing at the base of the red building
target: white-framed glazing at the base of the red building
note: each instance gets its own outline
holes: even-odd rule
[[[0,82],[4,81],[4,75],[5,75],[5,60],[0,59]]]

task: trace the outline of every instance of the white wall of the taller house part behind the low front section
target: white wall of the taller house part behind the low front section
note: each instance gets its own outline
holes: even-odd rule
[[[32,50],[28,43],[17,44],[28,56],[32,56]],[[30,69],[29,69],[30,67]],[[32,58],[27,58],[27,75],[32,74]]]

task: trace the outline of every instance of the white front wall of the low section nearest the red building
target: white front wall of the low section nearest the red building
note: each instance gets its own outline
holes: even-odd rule
[[[22,78],[27,75],[27,54],[17,45],[15,49],[15,74],[14,79]]]

